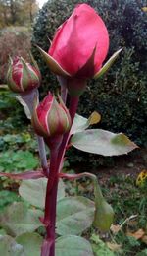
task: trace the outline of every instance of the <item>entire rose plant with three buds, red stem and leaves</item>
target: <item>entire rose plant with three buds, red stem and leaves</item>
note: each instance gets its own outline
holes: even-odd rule
[[[13,92],[19,93],[17,97],[24,105],[28,118],[31,119],[38,140],[42,169],[20,174],[0,173],[0,175],[27,180],[23,181],[20,194],[32,205],[44,208],[44,215],[42,212],[40,215],[38,214],[39,224],[46,229],[41,245],[41,256],[55,255],[56,212],[58,217],[56,232],[61,235],[57,239],[56,255],[92,256],[90,244],[76,235],[91,224],[99,230],[108,231],[113,223],[113,209],[104,199],[95,175],[86,172],[68,174],[62,172],[62,169],[66,151],[71,146],[103,156],[123,155],[137,147],[123,133],[114,134],[101,129],[87,129],[100,120],[98,113],[92,113],[89,119],[76,114],[78,101],[86,87],[87,80],[97,79],[103,75],[121,50],[103,65],[109,48],[109,35],[102,19],[94,9],[86,4],[77,5],[71,17],[60,26],[48,53],[39,46],[37,47],[51,71],[57,75],[61,85],[61,96],[49,93],[39,103],[37,88],[40,84],[40,72],[32,56],[33,66],[25,63],[22,58],[11,60],[8,86]],[[50,163],[46,159],[45,144],[50,150]],[[58,185],[60,187],[61,184],[59,180],[63,178],[73,180],[81,177],[91,179],[94,187],[94,202],[84,197],[75,199],[64,197],[59,200],[63,193],[63,188],[61,190],[59,188],[59,195],[57,194]],[[37,184],[37,189],[35,184]],[[32,190],[30,189],[31,185]],[[38,187],[40,191],[38,191]],[[45,194],[42,193],[42,187],[45,187],[43,189]],[[32,197],[33,189],[37,200]],[[80,208],[84,209],[88,221],[83,220],[80,224],[81,217],[78,219],[78,216],[76,218],[71,216],[69,221],[65,220],[65,223],[62,223],[61,219],[64,218],[64,213],[67,216],[70,211],[69,215],[72,215],[75,210]],[[4,217],[3,220],[5,220]],[[71,226],[70,231],[67,229],[68,226],[69,228]],[[35,227],[28,228],[27,231],[32,231]],[[9,226],[9,230],[12,228]],[[20,232],[23,235],[17,236],[17,243],[26,246],[25,231],[15,229],[15,232],[17,235]],[[70,236],[66,236],[66,234]],[[27,242],[31,243],[31,239],[34,241],[34,234],[32,236],[27,234]],[[73,251],[70,248],[71,244],[74,247]]]

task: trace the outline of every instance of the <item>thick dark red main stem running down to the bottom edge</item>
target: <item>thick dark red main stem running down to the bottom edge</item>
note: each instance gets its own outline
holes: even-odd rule
[[[76,113],[79,97],[71,98],[69,112],[71,114],[72,123]],[[58,173],[63,165],[66,147],[70,138],[70,132],[64,135],[63,141],[59,148],[51,150],[50,156],[50,172],[48,177],[46,200],[45,200],[45,216],[43,223],[46,226],[46,238],[41,249],[41,256],[55,256],[55,224],[56,224],[56,204],[58,190]],[[50,184],[52,183],[52,187]]]

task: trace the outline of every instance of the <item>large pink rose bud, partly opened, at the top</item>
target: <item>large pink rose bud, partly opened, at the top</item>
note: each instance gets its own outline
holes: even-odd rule
[[[48,51],[71,77],[87,79],[102,67],[109,35],[101,17],[87,4],[79,4],[59,27]]]

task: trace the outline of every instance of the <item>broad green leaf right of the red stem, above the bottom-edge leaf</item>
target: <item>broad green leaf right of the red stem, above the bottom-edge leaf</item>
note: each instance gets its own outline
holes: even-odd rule
[[[85,197],[65,197],[57,205],[57,233],[80,234],[93,222],[94,203]]]

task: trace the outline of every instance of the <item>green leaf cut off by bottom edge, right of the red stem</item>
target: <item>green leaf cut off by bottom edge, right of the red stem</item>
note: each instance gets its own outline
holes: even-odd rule
[[[56,241],[56,256],[93,256],[90,243],[75,235],[63,236]]]

